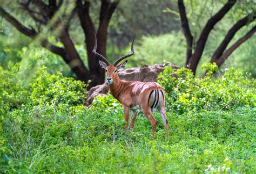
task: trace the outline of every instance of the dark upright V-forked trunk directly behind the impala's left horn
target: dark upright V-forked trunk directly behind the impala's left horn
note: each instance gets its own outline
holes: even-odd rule
[[[102,0],[102,5],[100,6],[99,27],[97,32],[97,52],[103,56],[106,56],[107,27],[109,26],[109,21],[114,10],[117,8],[118,3],[119,1],[111,2]],[[91,74],[91,83],[89,88],[91,88],[92,86],[104,83],[105,71],[99,66],[99,58],[92,53],[92,49],[95,44],[94,34],[96,32],[89,14],[90,2],[86,1],[83,4],[82,1],[77,1],[77,7],[80,24],[85,34],[85,44]]]

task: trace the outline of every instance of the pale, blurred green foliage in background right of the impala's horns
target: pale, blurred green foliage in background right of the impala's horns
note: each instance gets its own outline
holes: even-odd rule
[[[123,54],[129,53],[130,49],[129,46]],[[136,54],[129,60],[127,66],[163,64],[167,61],[181,67],[185,64],[186,43],[182,32],[143,37],[140,45],[134,46],[134,50]]]

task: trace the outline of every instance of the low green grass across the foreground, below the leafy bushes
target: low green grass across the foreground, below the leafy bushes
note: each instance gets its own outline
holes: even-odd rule
[[[241,107],[181,115],[168,112],[170,139],[157,113],[157,133],[151,140],[150,122],[141,113],[134,132],[125,132],[121,110],[20,109],[4,120],[10,152],[1,170],[253,172],[255,111]]]

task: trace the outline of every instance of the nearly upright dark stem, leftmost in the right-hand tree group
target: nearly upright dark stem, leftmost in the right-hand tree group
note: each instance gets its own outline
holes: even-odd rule
[[[185,5],[183,3],[183,0],[178,1],[178,8],[179,8],[179,14],[180,14],[180,21],[181,21],[181,27],[183,29],[183,33],[186,38],[187,42],[187,50],[186,50],[186,64],[190,60],[190,57],[192,55],[192,47],[193,47],[193,37],[190,32],[190,26],[188,24],[187,16],[186,16],[186,9]]]

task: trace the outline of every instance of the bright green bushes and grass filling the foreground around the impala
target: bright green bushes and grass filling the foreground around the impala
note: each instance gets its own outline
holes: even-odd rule
[[[170,139],[159,113],[139,112],[124,131],[122,106],[111,95],[83,105],[84,84],[39,68],[24,88],[17,72],[1,73],[1,172],[253,172],[255,80],[234,68],[204,79],[166,68]],[[176,79],[170,74],[177,73]]]

